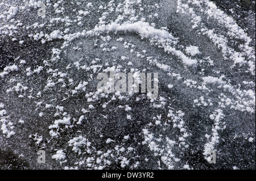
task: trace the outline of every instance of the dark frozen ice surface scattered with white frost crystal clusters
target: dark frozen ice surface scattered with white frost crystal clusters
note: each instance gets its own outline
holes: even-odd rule
[[[255,169],[255,1],[0,12],[0,169]],[[158,98],[97,91],[110,70],[159,73]]]

